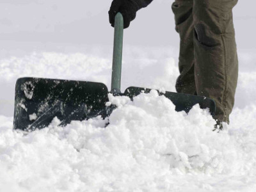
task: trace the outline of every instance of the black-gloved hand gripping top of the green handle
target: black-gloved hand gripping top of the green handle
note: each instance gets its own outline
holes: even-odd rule
[[[124,17],[124,29],[130,26],[130,22],[135,19],[136,12],[139,10],[139,6],[132,0],[113,0],[111,3],[109,15],[109,23],[112,27],[115,27],[116,13],[122,13]]]

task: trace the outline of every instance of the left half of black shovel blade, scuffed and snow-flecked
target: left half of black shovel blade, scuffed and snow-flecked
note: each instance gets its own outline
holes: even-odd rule
[[[106,114],[108,88],[102,83],[23,77],[15,87],[13,129],[47,127],[57,116],[60,125]]]

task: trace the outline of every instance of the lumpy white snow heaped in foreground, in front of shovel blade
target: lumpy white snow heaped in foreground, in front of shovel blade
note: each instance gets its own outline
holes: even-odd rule
[[[177,113],[155,91],[133,102],[109,99],[118,105],[109,119],[58,127],[55,118],[29,134],[12,131],[12,118],[1,116],[0,191],[256,189],[255,106],[244,109],[252,111],[247,119],[234,112],[243,124],[212,132],[207,110]]]

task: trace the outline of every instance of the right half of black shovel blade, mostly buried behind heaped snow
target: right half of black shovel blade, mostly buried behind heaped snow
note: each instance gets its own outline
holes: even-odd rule
[[[151,90],[152,89],[131,86],[125,90],[124,95],[132,99],[132,97],[140,95],[140,93],[149,93]],[[184,93],[160,93],[159,91],[157,92],[159,93],[159,95],[164,95],[168,99],[172,100],[173,104],[175,105],[175,111],[186,111],[186,113],[188,113],[189,110],[193,108],[193,106],[195,106],[195,104],[199,104],[200,108],[209,108],[211,115],[215,115],[216,104],[214,100],[207,97],[189,95]]]

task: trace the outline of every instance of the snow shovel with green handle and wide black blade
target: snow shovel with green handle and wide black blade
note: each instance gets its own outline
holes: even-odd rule
[[[113,95],[131,98],[141,92],[149,93],[149,88],[131,86],[124,93],[120,91],[122,68],[124,20],[121,13],[115,17],[115,37],[113,51],[113,70],[111,92]],[[15,86],[15,109],[13,129],[34,131],[51,124],[57,117],[60,125],[72,120],[86,120],[95,116],[106,118],[116,107],[106,106],[108,88],[105,84],[89,81],[70,81],[61,79],[43,79],[22,77]],[[209,108],[212,116],[215,113],[215,102],[212,99],[187,95],[183,93],[160,93],[175,104],[176,111],[188,111],[199,104],[200,108]]]

